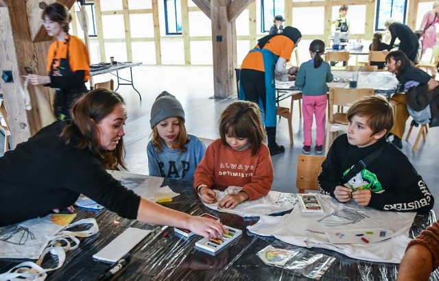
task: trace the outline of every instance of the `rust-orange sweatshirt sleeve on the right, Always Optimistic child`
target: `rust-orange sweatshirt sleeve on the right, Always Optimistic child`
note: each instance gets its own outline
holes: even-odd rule
[[[242,191],[250,196],[249,200],[259,199],[267,195],[272,189],[274,179],[272,158],[265,143],[259,147],[259,151],[253,157],[258,157],[258,161],[252,181],[242,187]]]

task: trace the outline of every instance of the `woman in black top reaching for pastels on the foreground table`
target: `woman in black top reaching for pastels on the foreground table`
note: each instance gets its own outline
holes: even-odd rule
[[[78,99],[71,114],[71,123],[56,121],[0,158],[0,225],[67,208],[82,193],[121,217],[222,236],[220,223],[139,197],[106,171],[125,168],[127,112],[118,93],[93,90]]]

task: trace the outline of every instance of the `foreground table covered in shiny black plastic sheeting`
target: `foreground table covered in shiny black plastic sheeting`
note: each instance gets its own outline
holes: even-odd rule
[[[285,244],[273,237],[251,234],[246,231],[246,226],[256,223],[257,218],[244,219],[207,209],[195,195],[191,182],[165,180],[163,185],[168,185],[181,194],[165,206],[193,215],[208,212],[219,217],[225,225],[243,230],[241,238],[223,252],[211,256],[195,249],[195,241],[200,236],[185,239],[174,234],[174,228],[123,219],[107,209],[95,211],[78,208],[75,221],[94,217],[99,225],[99,233],[82,239],[78,249],[67,252],[63,267],[48,273],[47,280],[97,280],[108,264],[93,260],[93,254],[128,227],[152,230],[152,233],[130,251],[131,261],[117,280],[310,280],[298,272],[265,265],[256,256],[257,252],[273,243],[277,247],[299,249],[309,256],[320,253],[335,257],[335,262],[320,280],[396,279],[398,265],[355,260],[326,249],[306,249]],[[283,193],[281,197],[286,201],[296,202],[296,195],[292,193]],[[432,211],[416,215],[410,236],[416,236],[434,221],[436,217]],[[0,259],[0,273],[22,261]],[[313,270],[312,266],[309,270]],[[431,280],[439,280],[437,271],[433,273]]]

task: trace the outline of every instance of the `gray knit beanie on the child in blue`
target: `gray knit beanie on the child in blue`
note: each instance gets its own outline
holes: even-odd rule
[[[180,117],[185,121],[185,110],[181,106],[180,101],[163,91],[158,97],[151,108],[151,129],[154,128],[159,122],[168,119],[170,117]]]

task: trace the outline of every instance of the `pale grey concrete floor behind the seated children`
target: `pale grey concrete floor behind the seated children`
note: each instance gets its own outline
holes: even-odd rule
[[[121,75],[129,72],[120,71]],[[156,96],[163,90],[175,95],[186,112],[186,127],[190,134],[203,138],[218,138],[218,118],[228,104],[236,101],[236,95],[228,99],[213,99],[212,66],[138,66],[133,69],[134,86],[139,90],[142,101],[131,88],[121,86],[117,92],[126,99],[128,120],[126,122],[126,162],[132,173],[148,173],[146,146],[150,140],[150,111]],[[109,74],[95,77],[94,82],[102,82],[112,77]],[[281,105],[289,107],[289,99]],[[409,119],[411,121],[411,119]],[[407,127],[410,123],[407,123]],[[302,119],[298,115],[298,103],[294,105],[293,117],[294,145],[289,145],[287,119],[278,121],[278,143],[285,146],[285,154],[272,157],[274,166],[274,191],[296,193],[297,158],[302,153]],[[431,193],[439,201],[439,149],[435,149],[439,139],[439,129],[431,128],[427,142],[420,141],[416,152],[412,145],[418,128],[408,142],[403,140],[403,153],[412,161],[423,176]],[[313,127],[313,140],[316,131]],[[311,149],[311,154],[314,154]],[[434,207],[439,211],[439,203]]]

